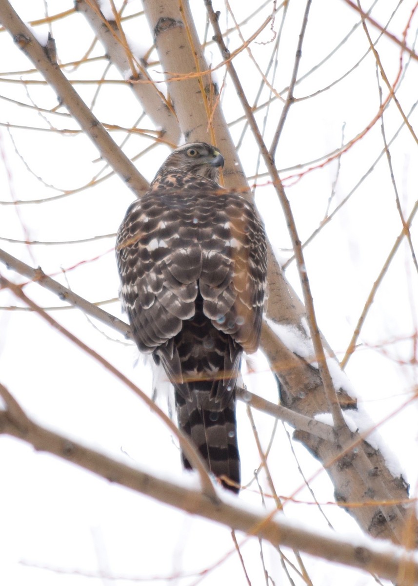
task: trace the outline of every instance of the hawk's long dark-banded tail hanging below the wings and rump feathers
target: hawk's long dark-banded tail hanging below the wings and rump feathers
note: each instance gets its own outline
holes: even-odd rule
[[[176,408],[179,428],[190,436],[208,469],[221,479],[222,485],[232,492],[239,492],[241,470],[235,418],[235,396],[222,410],[207,410],[197,406],[198,383],[189,383],[191,400],[176,391]],[[193,388],[197,387],[197,388]],[[183,457],[184,468],[190,469]],[[229,480],[229,482],[228,482]]]

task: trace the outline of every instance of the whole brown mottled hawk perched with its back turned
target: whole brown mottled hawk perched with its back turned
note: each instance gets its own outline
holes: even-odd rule
[[[205,142],[173,151],[126,212],[116,250],[139,350],[173,383],[180,429],[238,492],[235,386],[242,351],[258,347],[267,261],[255,209],[217,183],[223,165]]]

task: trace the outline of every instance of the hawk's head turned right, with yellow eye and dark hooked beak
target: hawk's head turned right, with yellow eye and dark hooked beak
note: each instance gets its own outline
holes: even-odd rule
[[[217,181],[219,168],[223,166],[224,157],[216,147],[207,144],[207,142],[189,142],[176,148],[167,157],[162,169],[164,171],[183,171]]]

